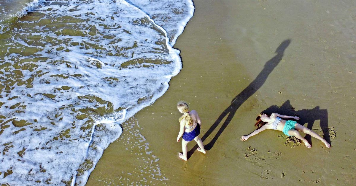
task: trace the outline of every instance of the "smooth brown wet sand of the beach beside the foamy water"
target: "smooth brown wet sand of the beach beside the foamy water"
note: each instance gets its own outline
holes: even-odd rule
[[[355,3],[194,4],[174,46],[182,71],[122,124],[87,185],[355,185]],[[198,111],[209,149],[187,162],[178,158],[179,100]],[[311,139],[308,149],[272,130],[241,142],[262,111],[298,115],[331,148]]]

